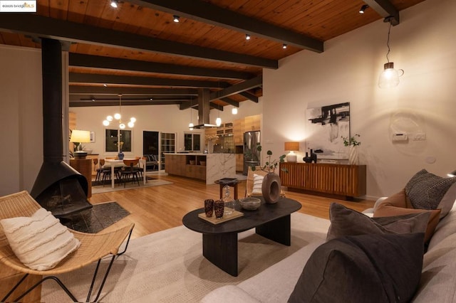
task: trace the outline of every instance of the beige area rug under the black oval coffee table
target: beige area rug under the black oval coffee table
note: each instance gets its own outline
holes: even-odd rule
[[[179,226],[130,241],[115,260],[100,302],[199,302],[212,289],[237,285],[326,237],[329,221],[302,213],[291,215],[291,246],[274,243],[248,230],[239,234],[239,276],[232,277],[202,256],[202,235]],[[60,275],[79,301],[86,299],[95,265]],[[69,302],[65,292],[46,281],[42,302]]]

